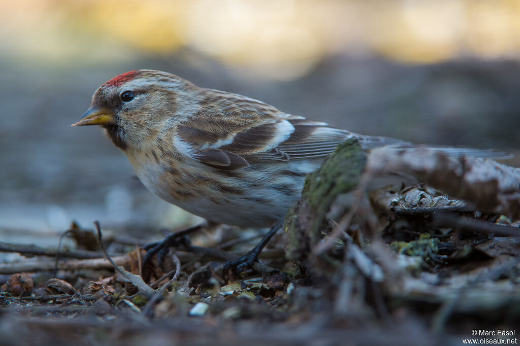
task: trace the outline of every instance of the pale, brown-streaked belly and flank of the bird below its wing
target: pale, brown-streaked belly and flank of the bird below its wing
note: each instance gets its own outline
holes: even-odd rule
[[[258,167],[248,167],[236,176],[215,175],[205,166],[192,168],[172,171],[134,165],[145,187],[166,202],[207,220],[240,227],[266,228],[283,221],[300,197],[305,179],[304,175],[278,177],[270,174],[269,168],[265,174]]]

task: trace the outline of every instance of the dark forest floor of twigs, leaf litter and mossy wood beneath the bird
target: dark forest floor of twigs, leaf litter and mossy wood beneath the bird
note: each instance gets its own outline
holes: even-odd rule
[[[253,231],[194,235],[162,265],[153,258],[146,282],[145,250],[126,241],[115,247],[126,253],[109,254],[107,244],[118,241],[101,242],[99,225],[97,244],[73,225],[78,248],[67,251],[2,243],[38,257],[0,264],[10,274],[0,276],[0,338],[7,345],[449,345],[472,329],[513,330],[520,222],[516,192],[497,179],[513,181],[517,171],[422,149],[375,155],[382,161],[355,141],[340,145],[307,178],[262,263],[232,280],[222,263],[254,245]],[[422,161],[411,165],[417,155]],[[434,177],[435,165],[448,171]],[[397,168],[425,182],[369,185]],[[477,174],[483,169],[495,174]],[[492,200],[475,197],[483,186]],[[57,252],[71,256],[57,261]]]

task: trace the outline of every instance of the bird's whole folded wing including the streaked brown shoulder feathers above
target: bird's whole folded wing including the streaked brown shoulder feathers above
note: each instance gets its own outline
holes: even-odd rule
[[[348,138],[366,143],[375,139],[282,113],[251,99],[242,105],[235,100],[233,107],[206,112],[179,124],[177,134],[189,146],[192,158],[221,169],[322,157]]]

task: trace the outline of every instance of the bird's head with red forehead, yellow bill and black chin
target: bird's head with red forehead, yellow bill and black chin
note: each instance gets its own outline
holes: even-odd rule
[[[181,114],[193,112],[197,89],[166,72],[126,72],[101,85],[90,108],[72,126],[101,125],[118,148],[139,148],[165,126],[181,121]]]

